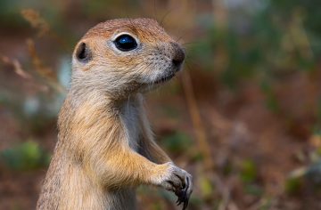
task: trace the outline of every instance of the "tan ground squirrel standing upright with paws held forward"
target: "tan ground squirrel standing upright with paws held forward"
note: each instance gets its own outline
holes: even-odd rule
[[[187,206],[192,176],[153,141],[146,90],[174,77],[185,52],[155,20],[108,20],[72,56],[70,91],[37,209],[135,209],[135,188],[161,186]]]

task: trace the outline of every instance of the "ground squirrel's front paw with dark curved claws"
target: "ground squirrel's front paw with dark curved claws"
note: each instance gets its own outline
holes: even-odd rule
[[[173,163],[167,163],[167,165],[169,166],[168,174],[161,181],[161,186],[175,192],[177,206],[183,203],[183,209],[185,209],[193,191],[192,175]]]

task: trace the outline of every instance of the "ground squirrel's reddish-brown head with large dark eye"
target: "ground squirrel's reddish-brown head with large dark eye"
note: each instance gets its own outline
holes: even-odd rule
[[[184,49],[156,20],[108,20],[89,29],[76,45],[71,88],[125,98],[168,81],[184,60]]]

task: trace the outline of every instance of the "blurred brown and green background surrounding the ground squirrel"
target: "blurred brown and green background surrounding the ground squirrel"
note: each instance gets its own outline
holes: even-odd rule
[[[161,147],[193,174],[189,209],[321,209],[318,0],[1,0],[0,209],[34,209],[78,39],[150,17],[185,70],[147,96]],[[138,189],[138,209],[177,209]],[[180,208],[179,208],[180,209]]]

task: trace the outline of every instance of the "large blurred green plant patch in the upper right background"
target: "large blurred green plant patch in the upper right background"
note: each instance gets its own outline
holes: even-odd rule
[[[267,83],[295,71],[316,70],[321,56],[316,21],[320,15],[310,12],[317,1],[258,2],[262,5],[257,9],[228,8],[225,28],[211,16],[202,16],[204,36],[189,47],[199,69],[214,70],[232,89],[243,81]],[[275,107],[270,92],[262,91],[268,95],[268,106]]]

